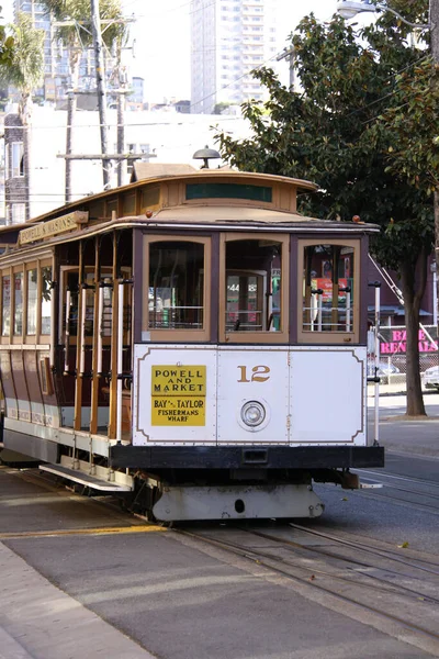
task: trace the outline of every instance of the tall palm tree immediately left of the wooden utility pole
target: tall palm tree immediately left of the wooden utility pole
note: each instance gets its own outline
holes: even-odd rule
[[[85,49],[92,45],[91,5],[90,0],[43,0],[42,3],[57,23],[55,38],[61,40],[68,51],[66,155],[71,155],[80,60]],[[121,40],[126,31],[120,0],[101,0],[100,16],[104,22],[102,38],[108,53],[110,53],[113,44]],[[66,158],[66,203],[71,201],[71,166],[72,161]]]

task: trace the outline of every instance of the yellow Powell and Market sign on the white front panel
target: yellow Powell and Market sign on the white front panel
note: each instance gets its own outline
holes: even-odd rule
[[[151,367],[151,425],[204,426],[205,366]]]

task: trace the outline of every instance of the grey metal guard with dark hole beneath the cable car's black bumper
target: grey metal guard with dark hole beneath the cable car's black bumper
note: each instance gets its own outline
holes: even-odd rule
[[[323,511],[309,485],[170,487],[153,507],[162,522],[318,517]]]

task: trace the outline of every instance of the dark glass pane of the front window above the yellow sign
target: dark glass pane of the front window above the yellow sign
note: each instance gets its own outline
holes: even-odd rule
[[[148,327],[201,330],[204,326],[204,245],[157,242],[149,245]]]

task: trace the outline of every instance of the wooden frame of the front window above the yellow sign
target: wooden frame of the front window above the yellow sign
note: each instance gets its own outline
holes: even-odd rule
[[[203,328],[202,330],[154,330],[149,328],[149,246],[154,243],[196,243],[204,245]],[[143,343],[206,343],[211,338],[211,269],[212,238],[184,234],[144,235],[144,271],[142,303]]]

